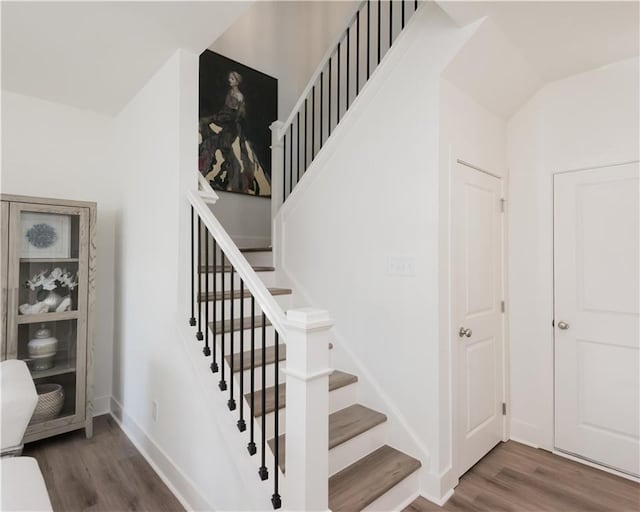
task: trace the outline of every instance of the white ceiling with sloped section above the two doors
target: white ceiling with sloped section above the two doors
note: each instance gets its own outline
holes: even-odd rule
[[[445,77],[504,118],[554,80],[640,55],[640,3],[439,1],[459,25],[480,18]]]

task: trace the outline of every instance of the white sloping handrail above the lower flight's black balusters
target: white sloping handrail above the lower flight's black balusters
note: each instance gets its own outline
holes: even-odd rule
[[[222,227],[218,219],[213,215],[211,209],[205,203],[199,192],[190,190],[187,197],[191,206],[198,212],[200,219],[207,226],[207,229],[218,243],[218,247],[224,252],[229,264],[244,281],[245,286],[255,297],[263,313],[271,321],[273,327],[286,338],[287,327],[285,324],[285,314],[280,304],[276,302],[262,280],[255,273],[249,262],[242,255],[236,244],[231,240],[229,234]]]

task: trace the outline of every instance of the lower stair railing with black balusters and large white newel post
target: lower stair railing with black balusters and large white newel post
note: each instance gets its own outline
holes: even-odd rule
[[[228,391],[227,407],[237,414],[238,430],[245,432],[248,424],[247,450],[251,455],[260,452],[258,475],[263,481],[269,478],[268,460],[271,460],[267,456],[269,442],[266,439],[266,328],[268,325],[273,326],[275,385],[272,395],[274,437],[271,443],[271,503],[274,509],[280,508],[286,500],[289,510],[326,511],[329,474],[328,376],[331,373],[328,331],[333,324],[328,313],[323,310],[306,308],[284,313],[209,208],[208,203],[214,203],[216,199],[217,195],[206,180],[200,180],[198,191],[188,193],[191,206],[189,325],[196,331],[196,339],[204,342],[202,351],[205,357],[211,357],[211,371],[220,375],[220,391]],[[234,279],[236,276],[237,280]],[[238,318],[235,315],[236,301],[239,301]],[[245,309],[249,313],[249,325],[245,324]],[[247,327],[250,329],[245,333]],[[245,339],[246,335],[248,339]],[[238,345],[236,338],[239,338]],[[287,368],[282,370],[286,376],[286,391],[279,379],[282,341],[286,342],[287,350]],[[248,355],[245,355],[247,345],[249,350]],[[258,357],[261,358],[260,390],[256,388]],[[239,365],[237,368],[236,364]],[[230,372],[228,377],[227,365]],[[235,385],[236,369],[239,389]],[[247,370],[248,390],[245,389]],[[281,495],[279,468],[282,439],[279,410],[284,406],[283,398],[286,400],[287,478],[285,492]]]

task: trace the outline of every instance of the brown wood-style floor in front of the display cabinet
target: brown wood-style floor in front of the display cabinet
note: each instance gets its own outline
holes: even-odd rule
[[[30,443],[55,512],[183,511],[175,496],[109,415],[84,431]]]

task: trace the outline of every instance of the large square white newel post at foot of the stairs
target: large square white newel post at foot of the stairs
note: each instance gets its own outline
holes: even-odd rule
[[[329,329],[327,311],[287,311],[287,449],[283,505],[329,507]]]

